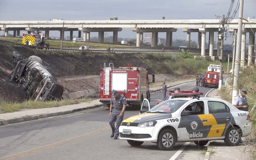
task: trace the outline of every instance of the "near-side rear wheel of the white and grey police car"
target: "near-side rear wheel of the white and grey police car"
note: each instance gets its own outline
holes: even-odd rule
[[[241,141],[241,131],[237,127],[230,127],[225,136],[224,142],[226,145],[238,145]]]

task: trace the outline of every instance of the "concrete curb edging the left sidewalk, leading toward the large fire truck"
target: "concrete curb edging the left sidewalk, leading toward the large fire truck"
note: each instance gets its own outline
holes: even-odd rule
[[[26,121],[31,121],[31,120],[38,120],[41,118],[47,118],[47,117],[52,117],[52,116],[59,116],[59,115],[66,115],[78,111],[83,111],[86,109],[92,109],[92,108],[97,108],[101,107],[103,104],[100,105],[92,105],[89,107],[83,107],[83,108],[78,108],[78,109],[72,109],[69,111],[62,111],[62,112],[55,112],[55,113],[46,113],[46,114],[41,114],[41,115],[33,115],[33,116],[24,116],[24,117],[19,117],[19,118],[13,118],[13,119],[8,119],[8,120],[0,120],[0,126],[1,125],[7,125],[7,124],[16,124],[20,122],[26,122]]]

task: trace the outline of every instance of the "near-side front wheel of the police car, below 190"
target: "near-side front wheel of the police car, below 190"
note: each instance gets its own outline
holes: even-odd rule
[[[164,151],[170,151],[176,143],[176,136],[170,129],[164,129],[157,138],[157,147]]]

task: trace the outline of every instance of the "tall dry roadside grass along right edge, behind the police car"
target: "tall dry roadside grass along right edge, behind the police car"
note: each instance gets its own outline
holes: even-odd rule
[[[232,81],[233,82],[233,81]],[[247,136],[249,145],[246,145],[244,152],[248,152],[251,159],[256,159],[256,108],[252,111],[256,104],[256,66],[253,68],[243,69],[239,77],[239,88],[247,89],[247,98],[249,104],[249,114],[251,115],[250,121],[252,123],[251,135]],[[232,103],[232,96],[229,94],[232,92],[230,89],[223,87],[220,91],[221,98]]]

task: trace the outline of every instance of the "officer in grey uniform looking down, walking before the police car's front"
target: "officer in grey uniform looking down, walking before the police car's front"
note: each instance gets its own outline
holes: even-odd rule
[[[117,91],[113,90],[112,98],[110,100],[109,124],[112,129],[112,135],[110,137],[114,137],[115,140],[119,136],[119,126],[124,118],[126,104],[127,102],[125,96],[120,95]]]

